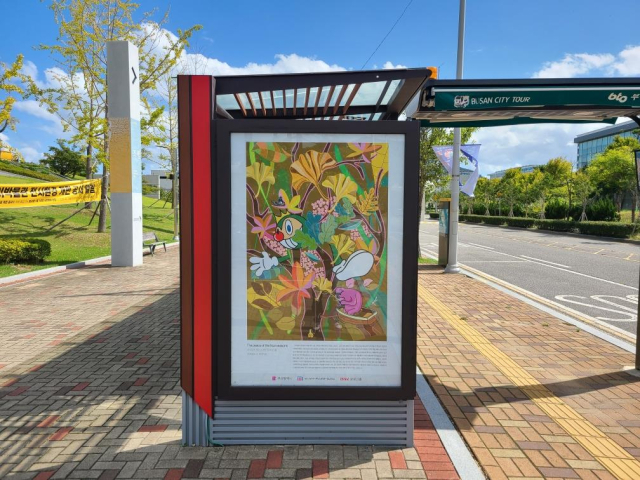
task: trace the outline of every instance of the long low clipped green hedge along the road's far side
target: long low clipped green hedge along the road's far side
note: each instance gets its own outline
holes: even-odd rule
[[[484,215],[460,215],[461,222],[485,223],[488,225],[507,225],[517,228],[538,228],[554,232],[579,232],[585,235],[601,237],[628,238],[634,231],[640,231],[636,224],[621,222],[574,222],[572,220],[553,220],[523,217],[485,217]]]

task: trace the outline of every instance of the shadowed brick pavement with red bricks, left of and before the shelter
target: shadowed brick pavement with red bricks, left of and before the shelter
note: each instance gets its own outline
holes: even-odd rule
[[[180,445],[178,251],[0,288],[0,478],[458,478],[416,448]]]

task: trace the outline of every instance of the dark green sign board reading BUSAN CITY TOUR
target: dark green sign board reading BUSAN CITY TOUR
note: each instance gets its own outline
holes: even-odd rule
[[[640,87],[435,88],[430,110],[640,108]]]

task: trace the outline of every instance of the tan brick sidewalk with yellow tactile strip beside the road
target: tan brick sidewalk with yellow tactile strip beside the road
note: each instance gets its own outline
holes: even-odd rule
[[[490,478],[640,479],[632,354],[435,268],[418,312],[418,364]]]

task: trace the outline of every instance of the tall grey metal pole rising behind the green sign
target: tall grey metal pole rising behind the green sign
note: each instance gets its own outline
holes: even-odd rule
[[[466,0],[460,0],[460,16],[458,17],[458,61],[456,80],[462,78],[464,60],[464,22]],[[453,160],[451,162],[451,207],[449,210],[449,263],[445,273],[460,273],[458,265],[458,213],[460,210],[460,127],[453,129]]]

